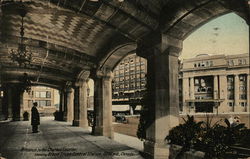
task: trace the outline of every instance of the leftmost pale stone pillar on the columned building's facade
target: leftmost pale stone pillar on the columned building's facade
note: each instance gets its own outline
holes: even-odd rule
[[[188,102],[186,100],[190,99],[189,97],[189,79],[188,77],[182,78],[182,103],[183,103],[183,113],[189,113]]]

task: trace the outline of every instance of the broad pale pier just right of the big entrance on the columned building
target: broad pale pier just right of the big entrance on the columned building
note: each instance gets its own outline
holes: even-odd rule
[[[219,75],[219,99],[222,102],[219,104],[218,112],[230,112],[230,107],[227,105],[227,75]]]

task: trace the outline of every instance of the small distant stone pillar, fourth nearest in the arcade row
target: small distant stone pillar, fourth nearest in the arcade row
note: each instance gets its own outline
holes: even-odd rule
[[[73,121],[73,106],[74,106],[74,90],[72,88],[67,88],[67,121]]]

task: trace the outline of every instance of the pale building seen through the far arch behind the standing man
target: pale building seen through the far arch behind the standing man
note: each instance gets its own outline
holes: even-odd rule
[[[23,94],[23,112],[30,113],[34,102],[37,102],[41,115],[53,115],[58,109],[58,91],[49,87],[31,87],[30,93]]]

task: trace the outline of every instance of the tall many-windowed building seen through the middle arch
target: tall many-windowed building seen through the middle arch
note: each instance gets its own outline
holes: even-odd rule
[[[130,105],[130,112],[140,105],[146,89],[147,60],[130,54],[114,69],[113,105]]]

